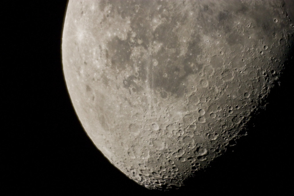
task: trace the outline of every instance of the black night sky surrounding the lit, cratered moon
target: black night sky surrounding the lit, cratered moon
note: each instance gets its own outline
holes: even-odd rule
[[[293,188],[293,65],[248,135],[185,187],[147,190],[96,149],[71,105],[61,64],[66,1],[3,1],[7,93],[4,195],[285,195]],[[293,63],[293,62],[292,62]],[[9,68],[9,71],[6,71]],[[4,84],[4,85],[3,85]],[[7,89],[6,89],[7,88]],[[254,123],[254,125],[253,125]],[[1,150],[1,151],[2,151]]]

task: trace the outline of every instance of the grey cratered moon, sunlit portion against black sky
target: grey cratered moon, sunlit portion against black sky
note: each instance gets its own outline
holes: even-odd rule
[[[148,189],[180,187],[265,107],[293,27],[278,0],[70,0],[66,85],[115,167]]]

